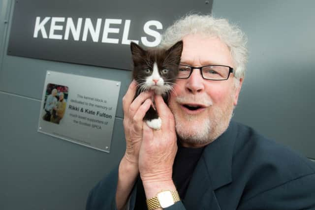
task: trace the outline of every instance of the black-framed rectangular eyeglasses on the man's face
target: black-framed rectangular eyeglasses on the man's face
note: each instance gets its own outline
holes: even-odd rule
[[[230,73],[234,73],[234,70],[230,66],[226,65],[206,65],[201,67],[193,67],[189,65],[180,64],[178,79],[187,79],[190,77],[193,69],[199,69],[201,76],[206,80],[227,80]]]

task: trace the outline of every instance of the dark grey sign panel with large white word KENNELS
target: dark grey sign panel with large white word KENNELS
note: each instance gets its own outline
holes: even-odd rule
[[[130,41],[157,46],[188,12],[212,0],[17,0],[8,55],[131,69]]]

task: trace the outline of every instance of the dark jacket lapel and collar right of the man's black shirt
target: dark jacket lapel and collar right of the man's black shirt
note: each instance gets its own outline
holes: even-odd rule
[[[232,182],[232,156],[237,125],[228,129],[204,149],[183,199],[186,209],[221,210],[215,190]]]

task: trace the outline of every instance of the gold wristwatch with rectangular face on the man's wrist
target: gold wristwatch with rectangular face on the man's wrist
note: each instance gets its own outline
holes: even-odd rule
[[[180,201],[178,192],[171,190],[163,190],[157,194],[156,197],[149,198],[146,200],[148,210],[154,210],[157,208],[166,208],[172,206],[176,202]]]

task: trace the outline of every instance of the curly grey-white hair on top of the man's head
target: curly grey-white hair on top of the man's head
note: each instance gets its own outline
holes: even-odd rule
[[[212,15],[188,14],[165,30],[160,47],[169,48],[189,34],[219,37],[230,49],[235,65],[235,78],[244,78],[248,60],[247,36],[237,25]]]

